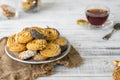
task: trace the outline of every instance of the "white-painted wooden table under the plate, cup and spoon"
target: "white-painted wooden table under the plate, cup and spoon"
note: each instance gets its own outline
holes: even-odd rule
[[[16,20],[0,21],[0,38],[20,31],[23,27],[38,25],[57,28],[79,51],[84,62],[80,67],[55,68],[55,74],[37,80],[113,80],[113,60],[120,60],[120,31],[108,41],[102,37],[112,28],[92,30],[76,24],[85,18],[84,10],[89,4],[107,5],[120,21],[120,0],[42,0],[41,11],[36,14],[20,13]]]

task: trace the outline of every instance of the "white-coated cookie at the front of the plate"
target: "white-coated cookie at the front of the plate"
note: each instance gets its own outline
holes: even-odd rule
[[[33,57],[37,52],[36,51],[32,51],[32,50],[26,50],[26,51],[23,51],[23,52],[20,52],[18,54],[18,58],[20,59],[29,59],[31,57]]]

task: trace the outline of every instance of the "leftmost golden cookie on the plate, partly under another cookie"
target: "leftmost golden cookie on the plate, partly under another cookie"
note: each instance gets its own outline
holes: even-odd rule
[[[9,47],[9,50],[12,52],[21,52],[21,51],[26,50],[26,45],[18,43],[15,40],[15,37],[16,37],[16,34],[8,37],[7,46]]]

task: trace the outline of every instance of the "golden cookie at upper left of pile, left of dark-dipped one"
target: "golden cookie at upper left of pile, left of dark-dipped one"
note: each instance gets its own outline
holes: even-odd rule
[[[23,30],[16,35],[18,43],[28,43],[33,39],[30,30]]]

